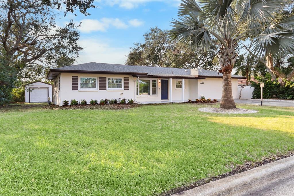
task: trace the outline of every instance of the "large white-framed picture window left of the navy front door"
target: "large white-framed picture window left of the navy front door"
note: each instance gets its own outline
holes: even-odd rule
[[[137,95],[156,95],[157,94],[157,80],[153,79],[139,79],[139,94],[137,81]]]

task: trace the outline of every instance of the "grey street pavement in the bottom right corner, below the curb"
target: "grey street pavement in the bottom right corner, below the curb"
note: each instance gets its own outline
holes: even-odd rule
[[[294,173],[290,177],[283,178],[278,182],[266,185],[260,189],[247,192],[244,196],[293,196],[294,195]]]

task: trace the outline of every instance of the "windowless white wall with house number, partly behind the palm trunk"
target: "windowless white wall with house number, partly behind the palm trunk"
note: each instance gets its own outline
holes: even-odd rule
[[[222,87],[222,78],[206,78],[204,80],[198,80],[198,99],[200,99],[201,95],[206,99],[221,99]],[[233,98],[238,99],[238,79],[232,78],[232,93]]]

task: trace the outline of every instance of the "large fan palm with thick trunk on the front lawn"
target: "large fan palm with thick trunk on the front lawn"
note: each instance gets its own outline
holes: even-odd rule
[[[238,55],[237,47],[242,39],[256,38],[255,52],[279,54],[293,51],[294,19],[288,18],[270,25],[274,12],[281,10],[283,0],[195,0],[179,5],[179,19],[172,21],[170,38],[179,39],[191,48],[206,50],[212,39],[218,40],[219,72],[223,74],[220,108],[235,108],[232,95],[231,73]],[[283,23],[285,22],[285,23]],[[244,24],[246,29],[244,30]],[[268,37],[267,37],[268,36]],[[282,41],[279,41],[279,40]],[[292,39],[289,42],[285,41]],[[269,49],[271,45],[278,46]],[[291,49],[292,47],[292,49]]]

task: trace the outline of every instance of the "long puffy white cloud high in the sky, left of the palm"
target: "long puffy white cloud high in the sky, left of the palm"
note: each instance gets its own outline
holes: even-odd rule
[[[116,29],[126,29],[129,26],[141,26],[144,24],[143,21],[138,19],[131,19],[128,21],[128,24],[121,21],[118,18],[102,18],[100,20],[97,19],[83,19],[81,20],[82,24],[78,27],[82,33],[90,33],[92,31],[107,31],[108,28],[113,26]]]

